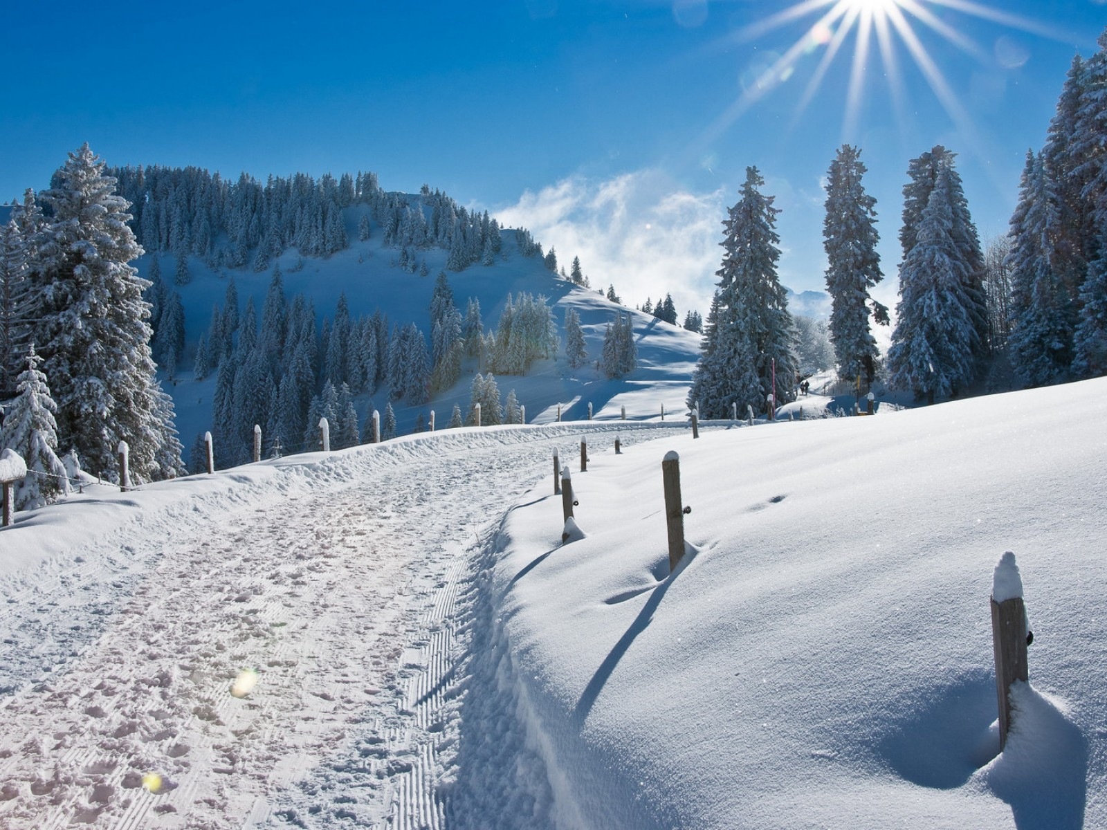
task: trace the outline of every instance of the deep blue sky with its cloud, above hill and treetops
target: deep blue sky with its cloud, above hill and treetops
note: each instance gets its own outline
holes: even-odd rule
[[[1107,6],[844,3],[811,31],[834,2],[775,27],[790,4],[22,2],[0,32],[0,199],[45,187],[85,141],[110,164],[225,176],[371,169],[387,189],[428,183],[526,224],[630,303],[672,291],[682,313],[706,308],[746,165],[784,210],[785,283],[823,286],[820,177],[844,141],[869,167],[890,278],[908,159],[935,143],[959,153],[981,235],[1002,234]],[[851,95],[855,24],[800,111],[855,13],[908,21],[945,92],[897,34],[897,71],[873,38]]]

